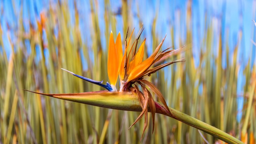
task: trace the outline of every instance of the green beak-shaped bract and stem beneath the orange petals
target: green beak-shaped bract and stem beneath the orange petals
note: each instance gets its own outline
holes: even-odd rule
[[[30,91],[32,92],[32,91]],[[37,92],[33,92],[37,93]],[[125,111],[142,111],[138,97],[135,93],[132,92],[108,92],[108,91],[97,91],[97,92],[86,92],[86,93],[74,93],[74,94],[42,94],[45,96],[50,96],[57,99],[64,99],[104,108],[125,110]],[[227,133],[207,124],[203,121],[200,121],[194,117],[190,117],[180,111],[177,111],[173,108],[170,108],[171,115],[163,108],[164,106],[159,102],[155,102],[156,113],[166,115],[177,119],[187,125],[195,127],[203,132],[210,134],[220,140],[223,140],[226,143],[230,144],[243,144],[237,138],[228,135]],[[150,112],[150,108],[148,107]]]

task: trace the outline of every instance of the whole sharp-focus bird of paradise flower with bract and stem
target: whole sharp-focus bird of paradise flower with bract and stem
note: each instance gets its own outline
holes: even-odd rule
[[[152,114],[152,122],[153,122],[153,130],[155,127],[155,114],[163,114],[177,120],[180,120],[188,125],[191,125],[195,128],[198,128],[210,135],[214,135],[219,139],[224,140],[225,142],[235,142],[240,143],[238,139],[235,137],[226,134],[225,132],[210,126],[200,120],[197,120],[193,117],[185,115],[177,110],[171,109],[167,106],[164,97],[162,96],[160,90],[150,81],[144,80],[144,77],[150,76],[151,74],[157,72],[163,67],[166,67],[173,63],[184,62],[183,59],[172,61],[169,63],[164,63],[158,66],[153,67],[154,64],[160,62],[161,58],[175,52],[177,50],[171,49],[171,47],[161,51],[160,48],[165,40],[165,37],[162,39],[160,45],[155,49],[151,56],[143,61],[144,56],[144,45],[146,39],[139,46],[137,51],[137,45],[139,41],[139,37],[143,31],[140,28],[139,33],[133,42],[129,53],[128,47],[130,45],[131,37],[133,35],[134,29],[128,39],[127,35],[125,38],[125,51],[123,54],[122,43],[120,32],[117,35],[116,42],[114,42],[113,33],[110,33],[109,39],[109,49],[108,49],[108,77],[110,83],[106,82],[103,84],[103,81],[95,81],[89,78],[85,78],[83,76],[77,75],[73,72],[70,72],[66,69],[63,69],[72,75],[83,79],[85,81],[91,82],[93,84],[99,85],[106,90],[104,91],[96,91],[96,92],[85,92],[85,93],[69,93],[69,94],[45,94],[29,91],[36,94],[41,94],[45,96],[50,96],[57,99],[64,99],[104,108],[117,109],[117,110],[125,110],[125,111],[139,111],[141,112],[139,117],[134,121],[134,123],[130,126],[132,127],[135,123],[137,123],[144,115],[144,128],[141,135],[141,139],[143,134],[148,126],[148,112]],[[116,89],[117,78],[119,76],[120,80],[120,89],[119,91]],[[139,89],[139,86],[141,89]],[[161,101],[157,102],[153,99],[152,94],[149,89],[155,93],[157,98]],[[140,140],[141,140],[140,139]]]

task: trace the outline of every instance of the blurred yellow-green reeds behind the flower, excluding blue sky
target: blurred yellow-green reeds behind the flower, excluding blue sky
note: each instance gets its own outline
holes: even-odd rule
[[[43,41],[42,31],[30,27],[29,33],[25,33],[22,21],[19,21],[17,41],[11,44],[11,56],[7,60],[5,49],[0,53],[0,143],[139,143],[143,129],[143,120],[128,130],[129,126],[139,115],[137,112],[109,110],[85,104],[79,104],[60,99],[39,96],[22,91],[28,89],[44,93],[76,93],[102,90],[100,87],[77,79],[60,68],[65,68],[78,75],[83,75],[95,80],[108,80],[107,77],[107,51],[100,37],[104,35],[108,42],[109,32],[116,32],[116,18],[109,11],[110,2],[105,0],[105,33],[100,32],[98,22],[98,7],[95,1],[90,1],[91,22],[90,30],[92,46],[89,47],[82,41],[79,32],[79,14],[75,7],[75,25],[70,24],[70,12],[67,3],[58,3],[54,7],[50,5],[46,11],[45,34],[47,43]],[[130,4],[122,1],[123,32],[127,27],[133,27]],[[138,8],[139,10],[139,8]],[[22,15],[22,10],[20,12]],[[139,17],[139,15],[138,15]],[[188,44],[183,52],[168,58],[168,61],[186,58],[185,63],[179,63],[168,67],[171,72],[171,84],[167,81],[163,70],[148,78],[154,82],[168,105],[186,113],[192,117],[213,125],[237,138],[241,138],[241,132],[247,133],[248,142],[255,139],[256,132],[256,105],[255,105],[255,66],[251,71],[250,62],[244,70],[246,83],[244,95],[236,95],[236,83],[238,70],[238,48],[240,47],[242,31],[235,47],[230,55],[229,45],[222,45],[222,34],[214,34],[211,24],[204,32],[202,48],[199,51],[200,63],[194,66],[192,55],[191,32],[191,7],[187,9],[187,24],[185,44]],[[155,15],[152,27],[153,50],[160,43],[161,38],[156,32],[158,14]],[[141,24],[141,22],[140,22]],[[42,26],[42,19],[39,21]],[[55,37],[53,28],[58,28],[58,36]],[[111,29],[110,29],[111,27]],[[174,43],[174,29],[171,26],[170,41]],[[2,31],[0,31],[2,33]],[[135,34],[136,35],[136,34]],[[70,36],[73,40],[70,40]],[[218,37],[218,54],[213,47],[213,39]],[[124,40],[124,38],[122,38]],[[181,38],[180,38],[181,39]],[[31,45],[31,53],[28,54],[25,41]],[[180,46],[185,45],[180,43]],[[0,45],[4,47],[2,34]],[[15,45],[15,50],[14,50]],[[40,52],[37,53],[36,46]],[[227,66],[222,67],[222,47],[225,47]],[[44,55],[44,49],[48,49],[49,57]],[[150,47],[147,47],[150,48]],[[57,49],[57,51],[56,51]],[[82,49],[82,51],[81,51]],[[89,58],[88,50],[94,54],[94,62]],[[83,52],[83,53],[81,53]],[[36,63],[36,57],[40,54],[42,59]],[[83,71],[81,55],[88,64],[88,70]],[[230,59],[231,58],[231,59]],[[228,60],[231,60],[230,62]],[[46,64],[46,61],[48,62]],[[214,62],[213,64],[211,62]],[[180,81],[180,86],[177,86]],[[202,84],[203,92],[199,93]],[[245,98],[241,123],[236,120],[237,97]],[[149,114],[149,117],[151,115]],[[203,134],[209,142],[217,141],[211,135]],[[251,136],[252,135],[252,136]],[[149,120],[149,128],[145,132],[142,143],[202,143],[203,137],[197,129],[166,116],[156,115],[155,131],[152,135],[152,121]]]

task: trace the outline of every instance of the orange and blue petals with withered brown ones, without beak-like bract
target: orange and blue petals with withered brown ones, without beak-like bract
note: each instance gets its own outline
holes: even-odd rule
[[[141,28],[142,29],[142,28]],[[177,62],[183,62],[181,60],[169,62],[169,63],[164,63],[161,65],[158,65],[156,67],[151,68],[152,65],[154,65],[156,62],[160,61],[161,58],[164,56],[169,55],[170,53],[176,51],[172,50],[169,48],[166,48],[162,52],[160,51],[160,48],[165,40],[165,37],[162,39],[161,43],[158,45],[158,47],[155,49],[155,51],[152,53],[150,57],[145,59],[143,61],[143,56],[144,56],[144,46],[145,46],[145,41],[141,43],[139,46],[139,49],[137,51],[137,45],[139,42],[139,37],[143,31],[139,30],[139,33],[137,35],[136,40],[133,42],[130,51],[128,53],[128,48],[130,45],[131,37],[134,32],[134,29],[132,31],[132,34],[129,37],[129,40],[127,42],[127,35],[128,35],[128,30],[127,30],[127,35],[125,39],[125,51],[123,54],[122,50],[122,43],[121,43],[121,36],[120,32],[117,35],[116,42],[114,41],[113,33],[111,31],[110,33],[110,38],[109,38],[109,47],[108,47],[108,77],[110,84],[107,82],[106,85],[102,84],[103,81],[94,81],[79,75],[74,74],[73,72],[68,71],[69,73],[73,74],[76,77],[79,77],[85,81],[89,81],[91,83],[97,84],[108,91],[111,92],[133,92],[136,93],[138,96],[138,100],[141,106],[141,113],[139,117],[135,120],[135,122],[131,125],[133,126],[136,122],[138,122],[144,115],[145,117],[145,122],[144,122],[144,129],[143,133],[147,127],[148,123],[148,111],[151,112],[152,114],[152,122],[153,122],[153,132],[154,132],[154,126],[155,126],[155,113],[156,113],[156,105],[155,101],[152,97],[152,94],[150,91],[146,88],[149,87],[150,90],[153,91],[154,94],[158,97],[158,99],[162,102],[164,107],[161,107],[163,111],[167,112],[169,115],[171,115],[171,112],[160,92],[160,90],[151,82],[143,80],[145,76],[150,76],[152,73],[155,73],[156,71],[160,70],[161,68],[168,66],[173,63]],[[136,52],[137,51],[137,52]],[[128,55],[127,55],[128,53]],[[65,69],[63,69],[65,70]],[[66,70],[67,71],[67,70]],[[119,75],[120,79],[120,90],[119,92],[116,89],[116,83],[117,83],[117,78]],[[142,91],[139,90],[139,87],[137,86],[140,85]],[[149,106],[149,108],[148,108]],[[142,134],[143,136],[143,134]],[[141,138],[142,138],[141,136]]]

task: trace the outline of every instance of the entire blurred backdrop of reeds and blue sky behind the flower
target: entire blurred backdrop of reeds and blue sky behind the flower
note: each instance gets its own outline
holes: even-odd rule
[[[135,27],[145,27],[145,53],[186,45],[166,62],[186,58],[146,78],[167,105],[254,143],[255,0],[0,1],[0,143],[139,143],[137,112],[109,110],[46,98],[44,93],[101,90],[60,68],[108,81],[110,31],[124,40]],[[124,44],[124,43],[123,43]],[[124,47],[124,46],[123,46]],[[108,117],[109,114],[109,117]],[[150,116],[150,115],[149,115]],[[151,117],[151,116],[150,116]],[[175,119],[156,115],[142,143],[209,143],[211,135]]]

